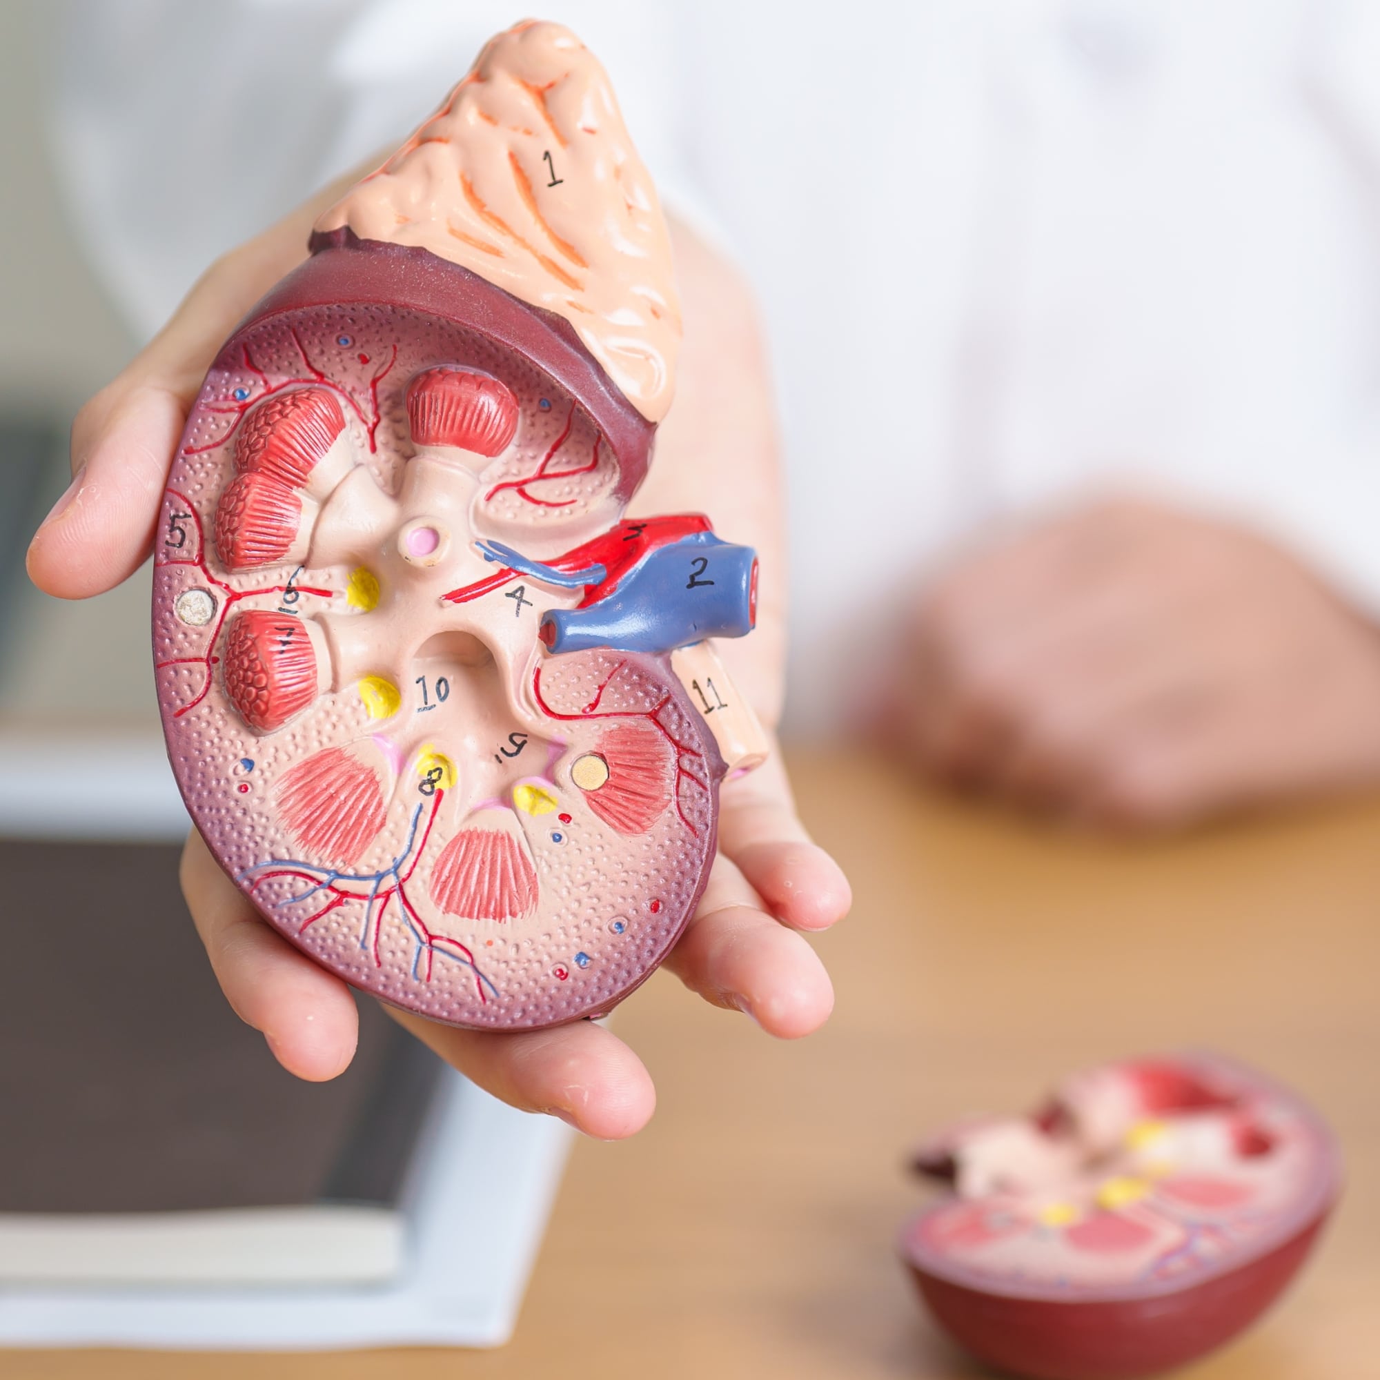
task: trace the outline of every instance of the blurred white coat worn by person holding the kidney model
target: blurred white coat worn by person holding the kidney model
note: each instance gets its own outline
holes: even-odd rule
[[[1089,489],[1232,513],[1380,611],[1380,4],[551,17],[609,68],[668,203],[760,295],[798,730],[846,715],[909,571]],[[489,0],[75,6],[59,166],[131,319],[152,330],[218,251],[397,141],[513,18]]]

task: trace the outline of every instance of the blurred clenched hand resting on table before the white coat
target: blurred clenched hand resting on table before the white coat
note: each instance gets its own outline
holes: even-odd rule
[[[1264,538],[1148,502],[955,564],[898,696],[943,780],[1115,827],[1380,780],[1380,631]]]

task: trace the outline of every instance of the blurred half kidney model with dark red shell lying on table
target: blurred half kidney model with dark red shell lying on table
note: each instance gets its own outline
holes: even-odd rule
[[[901,1253],[937,1321],[1005,1373],[1127,1380],[1260,1315],[1340,1188],[1326,1125],[1219,1056],[1107,1064],[1032,1116],[970,1122],[916,1169],[949,1191]]]

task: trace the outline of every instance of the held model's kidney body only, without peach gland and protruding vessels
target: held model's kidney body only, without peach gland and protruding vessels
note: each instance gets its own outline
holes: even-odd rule
[[[555,560],[621,515],[651,426],[566,323],[337,236],[226,341],[156,535],[168,751],[264,916],[436,1020],[609,1010],[713,857],[723,762],[661,654],[553,656]]]

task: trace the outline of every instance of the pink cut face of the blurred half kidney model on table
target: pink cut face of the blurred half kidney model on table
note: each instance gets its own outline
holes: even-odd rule
[[[1219,1057],[1101,1065],[1052,1105],[1053,1130],[999,1118],[941,1140],[958,1194],[916,1224],[918,1256],[1010,1294],[1183,1289],[1278,1245],[1337,1190],[1317,1114]]]

